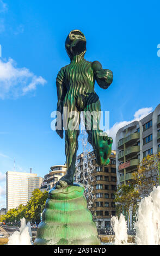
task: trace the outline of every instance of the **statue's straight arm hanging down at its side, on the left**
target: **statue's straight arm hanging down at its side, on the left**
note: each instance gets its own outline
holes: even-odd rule
[[[63,138],[63,101],[67,93],[65,83],[64,83],[64,68],[62,68],[57,75],[56,86],[57,86],[57,97],[58,97],[57,111],[60,112],[61,114],[61,130],[56,129],[56,132],[58,133],[60,138]]]

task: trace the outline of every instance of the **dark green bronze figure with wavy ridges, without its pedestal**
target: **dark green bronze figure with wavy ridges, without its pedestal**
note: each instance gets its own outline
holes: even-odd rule
[[[84,59],[86,39],[81,31],[75,29],[69,33],[65,41],[65,48],[71,62],[61,68],[57,76],[57,111],[61,113],[61,121],[65,119],[66,124],[69,124],[72,119],[69,113],[75,111],[78,117],[75,120],[78,128],[82,111],[97,113],[96,130],[93,127],[93,117],[91,117],[90,129],[87,127],[87,116],[84,117],[84,124],[88,133],[88,142],[95,151],[96,162],[99,166],[105,166],[109,163],[113,141],[99,128],[100,115],[98,113],[101,111],[101,105],[99,96],[94,91],[94,84],[96,80],[101,88],[107,89],[113,81],[113,73],[108,69],[102,69],[100,62],[88,62]],[[67,113],[63,112],[64,107],[67,109]],[[57,128],[56,131],[63,138],[63,128],[61,130]],[[57,187],[73,185],[78,135],[79,129],[72,130],[67,127],[65,131],[67,173],[57,182]]]

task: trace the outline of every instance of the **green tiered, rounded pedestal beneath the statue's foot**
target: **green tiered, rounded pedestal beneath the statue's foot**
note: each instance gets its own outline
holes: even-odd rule
[[[100,245],[84,187],[66,186],[49,192],[34,245]]]

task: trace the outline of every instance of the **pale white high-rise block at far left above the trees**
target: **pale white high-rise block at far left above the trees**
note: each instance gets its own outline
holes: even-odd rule
[[[6,173],[6,203],[7,211],[26,205],[35,188],[40,188],[41,177],[34,173],[10,172]],[[36,182],[35,182],[36,181]],[[33,182],[35,184],[33,185]]]

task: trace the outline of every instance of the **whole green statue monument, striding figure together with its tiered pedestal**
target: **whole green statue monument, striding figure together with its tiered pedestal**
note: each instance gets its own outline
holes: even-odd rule
[[[86,39],[78,29],[69,33],[65,48],[70,64],[61,68],[57,75],[56,132],[63,138],[65,130],[67,171],[48,193],[34,245],[100,245],[96,225],[83,196],[85,187],[73,183],[73,177],[81,113],[96,163],[99,166],[109,163],[113,140],[100,130],[101,105],[94,84],[96,80],[101,88],[107,89],[113,81],[113,73],[102,69],[100,62],[84,59]]]

